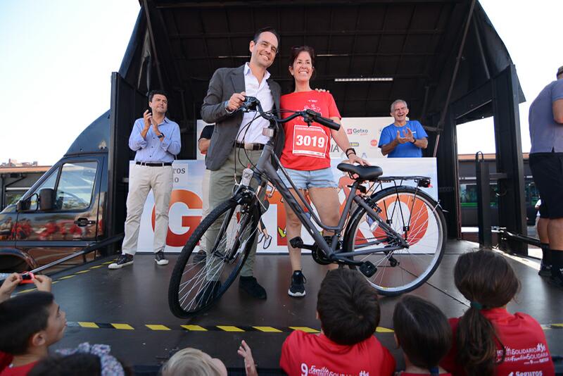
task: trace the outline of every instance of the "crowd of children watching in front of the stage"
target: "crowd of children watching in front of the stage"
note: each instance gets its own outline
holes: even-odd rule
[[[39,291],[11,292],[13,274],[0,287],[0,376],[131,375],[109,346],[48,348],[63,337],[66,319],[51,294],[51,280],[37,275]],[[505,257],[493,251],[465,253],[454,270],[455,286],[469,301],[460,318],[415,295],[403,296],[393,312],[396,345],[403,352],[402,376],[555,375],[545,334],[531,316],[509,313],[520,283]],[[281,348],[279,365],[287,375],[393,375],[396,361],[374,336],[380,308],[376,292],[355,270],[327,273],[317,296],[321,332],[292,332]],[[246,374],[258,375],[248,344],[238,349]],[[217,358],[183,349],[163,365],[161,375],[224,376]]]

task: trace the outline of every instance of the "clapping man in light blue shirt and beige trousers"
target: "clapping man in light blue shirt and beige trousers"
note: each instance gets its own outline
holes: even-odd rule
[[[151,189],[155,206],[154,261],[158,265],[168,263],[164,249],[168,232],[168,206],[172,195],[172,161],[180,152],[180,129],[177,123],[166,118],[168,99],[165,92],[150,92],[148,106],[151,110],[145,111],[143,118],[135,120],[129,136],[129,148],[137,153],[135,164],[129,171],[125,238],[122,254],[118,261],[108,265],[110,269],[120,269],[133,263],[141,215]]]

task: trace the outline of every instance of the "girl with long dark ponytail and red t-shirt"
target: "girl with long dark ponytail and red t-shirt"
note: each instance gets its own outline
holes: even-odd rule
[[[454,280],[470,306],[461,318],[450,319],[454,341],[443,368],[454,375],[555,375],[538,322],[506,310],[520,282],[503,256],[465,253],[455,263]]]

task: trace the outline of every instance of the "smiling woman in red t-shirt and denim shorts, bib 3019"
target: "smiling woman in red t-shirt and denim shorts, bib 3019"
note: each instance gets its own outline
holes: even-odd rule
[[[295,90],[281,96],[280,105],[284,110],[303,111],[311,109],[325,118],[330,118],[340,124],[339,109],[336,108],[334,98],[328,92],[317,92],[310,87],[310,79],[315,70],[315,51],[310,46],[298,46],[291,49],[289,73],[295,80]],[[289,116],[285,114],[284,116]],[[367,164],[356,156],[350,147],[348,136],[341,127],[340,130],[330,130],[318,123],[309,127],[303,118],[296,118],[284,124],[286,142],[281,153],[281,165],[289,173],[289,177],[302,192],[308,191],[313,205],[319,213],[322,223],[329,226],[338,225],[340,218],[340,202],[337,192],[338,185],[332,175],[330,165],[330,140],[345,151],[350,163]],[[286,187],[291,184],[281,174]],[[292,192],[296,196],[295,192]],[[297,196],[296,196],[297,199]],[[300,200],[297,199],[299,202]],[[303,205],[303,204],[302,204]],[[286,203],[286,239],[301,236],[301,222]],[[331,233],[325,233],[331,235]],[[301,271],[301,249],[289,247],[289,259],[293,275],[288,294],[290,296],[305,296],[303,272]]]

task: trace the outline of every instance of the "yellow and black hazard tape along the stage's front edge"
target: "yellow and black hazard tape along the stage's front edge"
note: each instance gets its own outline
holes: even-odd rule
[[[312,327],[267,327],[267,326],[241,326],[241,325],[162,325],[162,324],[142,324],[130,325],[127,323],[116,322],[89,322],[89,321],[69,321],[68,327],[83,327],[89,329],[113,329],[113,330],[182,330],[184,332],[262,332],[262,333],[287,333],[294,330],[302,332],[318,333],[320,330]],[[385,327],[377,327],[379,333],[392,333],[393,330]]]

